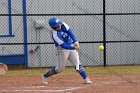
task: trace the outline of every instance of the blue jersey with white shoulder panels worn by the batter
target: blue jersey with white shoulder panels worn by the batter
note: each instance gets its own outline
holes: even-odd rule
[[[75,49],[72,43],[77,41],[76,36],[72,29],[64,22],[62,23],[60,30],[53,30],[52,39],[57,47]]]

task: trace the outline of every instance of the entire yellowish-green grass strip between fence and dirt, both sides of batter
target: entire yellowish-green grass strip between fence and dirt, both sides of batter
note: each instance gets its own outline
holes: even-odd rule
[[[47,72],[49,68],[9,69],[4,76],[33,76]],[[91,75],[140,75],[140,66],[85,67]],[[61,75],[77,74],[73,67],[67,67]]]

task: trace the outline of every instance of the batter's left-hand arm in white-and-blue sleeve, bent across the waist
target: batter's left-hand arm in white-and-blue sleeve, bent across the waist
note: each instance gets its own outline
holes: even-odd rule
[[[57,32],[53,32],[53,40],[55,43],[57,43],[58,46],[64,49],[75,49],[74,46],[67,45],[65,42],[63,42],[62,38],[57,35]]]

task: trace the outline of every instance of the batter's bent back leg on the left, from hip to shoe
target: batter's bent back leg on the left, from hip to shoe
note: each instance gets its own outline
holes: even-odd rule
[[[43,83],[47,84],[47,78],[62,72],[65,69],[67,60],[69,56],[69,51],[66,51],[64,49],[58,48],[56,52],[56,61],[57,61],[57,66],[52,67],[47,73],[43,75]]]

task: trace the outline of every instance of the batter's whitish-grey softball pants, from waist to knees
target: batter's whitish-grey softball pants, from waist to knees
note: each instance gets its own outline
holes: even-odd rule
[[[76,50],[68,50],[60,47],[56,48],[56,61],[57,61],[57,71],[61,72],[65,69],[67,61],[71,61],[75,66],[77,61],[79,61],[79,55]],[[80,63],[80,62],[79,62]]]

